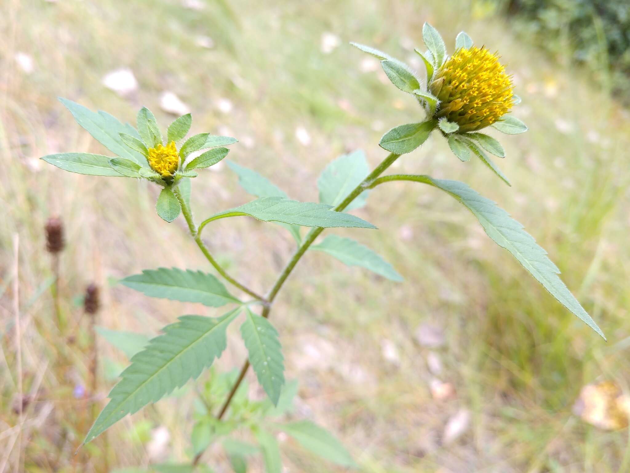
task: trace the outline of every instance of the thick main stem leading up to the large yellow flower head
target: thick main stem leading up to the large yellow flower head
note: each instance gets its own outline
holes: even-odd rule
[[[350,203],[354,199],[356,199],[362,192],[364,192],[364,190],[370,189],[370,187],[372,187],[372,185],[374,185],[374,182],[377,180],[377,177],[379,177],[387,168],[389,168],[389,166],[391,166],[392,163],[394,163],[394,161],[396,161],[399,156],[400,155],[396,155],[394,153],[390,153],[387,156],[387,158],[385,158],[381,162],[381,164],[376,166],[374,168],[374,171],[372,171],[368,175],[368,177],[366,177],[361,182],[361,184],[357,185],[357,187],[355,187],[355,189],[352,192],[350,192],[350,194],[348,194],[348,197],[343,199],[343,202],[341,202],[341,204],[336,206],[335,209],[333,209],[333,210],[336,211],[336,212],[343,211],[348,205],[350,205]],[[319,236],[319,234],[322,231],[324,231],[324,228],[320,226],[320,227],[317,227],[317,228],[312,228],[311,231],[309,231],[309,233],[307,233],[306,238],[304,239],[304,242],[302,243],[302,245],[299,248],[297,248],[297,251],[295,252],[293,257],[289,260],[289,262],[287,263],[287,266],[285,266],[285,268],[282,271],[282,273],[280,273],[280,276],[278,277],[278,279],[275,282],[275,284],[273,284],[273,288],[270,291],[269,296],[266,298],[266,301],[268,301],[268,305],[265,305],[265,307],[263,308],[263,313],[261,314],[262,317],[265,317],[265,318],[269,317],[270,312],[271,312],[271,303],[275,299],[275,296],[278,295],[278,292],[282,288],[282,286],[285,283],[285,281],[287,281],[287,278],[289,277],[289,275],[293,271],[295,265],[297,265],[297,262],[302,258],[302,256],[304,256],[304,254],[306,253],[306,250],[309,249],[311,244],[315,241],[315,239]],[[230,402],[232,401],[232,398],[234,397],[234,394],[236,394],[236,391],[238,390],[239,386],[241,385],[241,382],[243,382],[243,379],[245,378],[245,375],[246,375],[248,369],[249,369],[249,360],[245,361],[245,363],[243,365],[243,368],[241,368],[241,373],[239,374],[239,377],[237,378],[236,382],[232,386],[232,389],[230,390],[229,394],[227,395],[227,399],[224,402],[223,406],[221,407],[221,411],[219,411],[219,414],[217,414],[217,419],[218,420],[221,420],[223,418],[223,416],[226,414],[227,408],[229,407]],[[197,456],[193,460],[193,465],[197,465],[198,464],[202,453],[203,452],[200,452],[200,453],[197,454]]]

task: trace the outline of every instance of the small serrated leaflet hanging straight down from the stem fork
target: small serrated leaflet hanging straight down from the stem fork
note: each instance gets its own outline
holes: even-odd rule
[[[248,308],[245,321],[241,325],[241,336],[258,382],[265,389],[273,405],[277,406],[284,385],[284,356],[278,339],[278,330],[269,320],[256,315]]]

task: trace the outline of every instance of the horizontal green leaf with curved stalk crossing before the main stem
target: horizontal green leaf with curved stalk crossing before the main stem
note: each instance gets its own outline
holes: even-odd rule
[[[335,212],[333,207],[315,202],[289,201],[282,197],[262,197],[240,207],[214,214],[200,225],[207,225],[213,220],[239,215],[250,216],[266,222],[283,222],[291,225],[338,226],[357,228],[376,228],[371,223],[344,212]]]

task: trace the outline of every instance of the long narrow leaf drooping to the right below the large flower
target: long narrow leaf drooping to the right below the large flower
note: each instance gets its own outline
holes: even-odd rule
[[[508,250],[564,307],[595,330],[604,340],[606,339],[602,330],[564,285],[558,276],[560,270],[547,257],[547,252],[505,210],[497,207],[490,199],[480,196],[463,182],[435,179],[430,176],[411,176],[408,180],[433,185],[455,197],[476,216],[488,237],[501,248]]]

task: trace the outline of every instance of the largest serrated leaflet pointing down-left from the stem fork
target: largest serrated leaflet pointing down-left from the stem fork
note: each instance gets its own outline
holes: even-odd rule
[[[89,429],[85,442],[110,428],[127,414],[182,387],[197,378],[226,349],[226,328],[240,311],[236,308],[222,317],[184,315],[164,327],[164,334],[131,359],[121,380],[110,392],[110,402]]]

